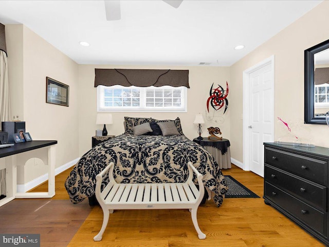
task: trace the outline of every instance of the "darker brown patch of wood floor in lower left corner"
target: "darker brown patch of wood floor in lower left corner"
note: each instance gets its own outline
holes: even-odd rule
[[[68,200],[16,199],[0,207],[0,233],[40,234],[42,247],[65,247],[90,211],[88,202],[74,205]],[[0,246],[4,246],[2,239]]]

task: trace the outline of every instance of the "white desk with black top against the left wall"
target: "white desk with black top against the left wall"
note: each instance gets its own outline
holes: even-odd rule
[[[15,198],[51,198],[55,195],[56,144],[57,140],[32,140],[0,149],[0,158],[5,158],[5,163],[0,165],[0,169],[6,169],[6,198],[0,200],[0,206]],[[24,165],[31,156],[29,151],[41,148],[48,149],[48,161],[45,162],[45,165],[48,165],[48,192],[17,192],[17,155]],[[22,154],[24,152],[27,153]]]

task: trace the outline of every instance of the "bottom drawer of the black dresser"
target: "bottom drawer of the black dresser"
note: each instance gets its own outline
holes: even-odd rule
[[[325,235],[324,221],[326,214],[303,203],[297,198],[267,182],[265,182],[264,186],[264,197],[284,208],[285,211],[302,221],[304,224],[312,227],[313,230]]]

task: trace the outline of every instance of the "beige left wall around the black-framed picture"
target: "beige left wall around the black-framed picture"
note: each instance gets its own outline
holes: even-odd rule
[[[6,25],[12,115],[34,140],[58,140],[56,167],[79,156],[78,64],[23,25]],[[46,77],[70,86],[69,107],[46,103]],[[38,160],[24,167],[27,183],[46,173]]]

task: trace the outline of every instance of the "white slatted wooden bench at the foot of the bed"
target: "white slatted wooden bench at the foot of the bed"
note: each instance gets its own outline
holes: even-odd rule
[[[103,224],[95,241],[102,240],[109,213],[114,209],[190,209],[192,221],[199,239],[206,235],[200,230],[196,212],[203,199],[205,188],[202,175],[188,163],[189,177],[185,183],[117,184],[113,178],[114,163],[111,162],[96,176],[96,198],[103,209]],[[101,191],[104,174],[108,172],[109,183]],[[199,189],[193,183],[193,172],[197,175]]]

